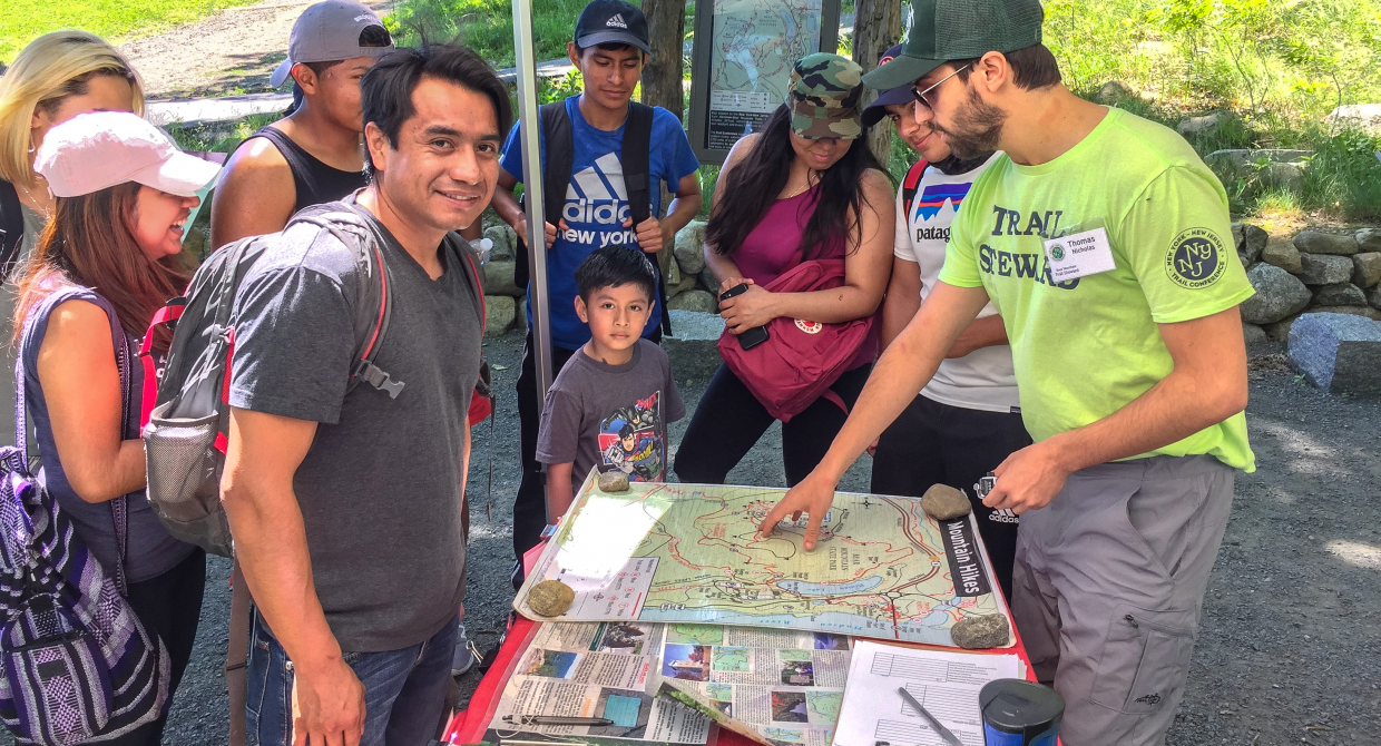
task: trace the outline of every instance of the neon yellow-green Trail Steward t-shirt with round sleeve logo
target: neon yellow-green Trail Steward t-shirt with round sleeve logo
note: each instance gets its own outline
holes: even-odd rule
[[[1116,268],[1055,285],[1045,239],[1092,228],[1108,231]],[[1184,138],[1120,109],[1050,163],[993,163],[954,220],[939,279],[987,290],[1036,441],[1102,420],[1164,379],[1174,363],[1157,323],[1253,294],[1218,178]],[[1199,453],[1254,471],[1244,414],[1135,457]]]

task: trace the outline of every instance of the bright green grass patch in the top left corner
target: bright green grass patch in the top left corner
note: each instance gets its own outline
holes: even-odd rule
[[[88,30],[119,43],[188,23],[221,8],[254,0],[6,0],[0,12],[0,61],[58,29]]]

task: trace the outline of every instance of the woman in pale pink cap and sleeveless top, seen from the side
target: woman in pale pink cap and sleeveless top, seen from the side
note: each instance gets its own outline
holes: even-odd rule
[[[54,207],[19,279],[14,323],[43,479],[91,554],[123,571],[130,606],[167,647],[171,692],[196,637],[206,553],[173,539],[149,507],[144,376],[130,363],[155,311],[186,286],[182,224],[217,166],[134,113],[97,112],[50,130],[35,169]],[[123,557],[116,519],[127,526]],[[104,743],[156,745],[164,718]]]

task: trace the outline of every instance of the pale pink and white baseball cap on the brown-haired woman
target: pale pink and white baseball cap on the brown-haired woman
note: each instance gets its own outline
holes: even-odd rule
[[[33,170],[52,196],[99,192],[126,181],[192,196],[215,178],[215,163],[177,149],[167,135],[130,112],[93,112],[48,130]]]

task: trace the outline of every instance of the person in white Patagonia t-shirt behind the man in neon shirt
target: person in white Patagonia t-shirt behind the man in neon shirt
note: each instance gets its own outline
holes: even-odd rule
[[[878,66],[899,54],[900,44],[882,54]],[[916,98],[907,82],[878,91],[863,111],[866,127],[889,119],[896,135],[921,155],[896,191],[892,280],[881,315],[884,348],[935,289],[945,264],[950,224],[974,181],[1000,155],[989,151],[967,159],[956,156],[931,127],[932,122],[917,122],[913,106]],[[910,497],[920,497],[936,484],[968,490],[983,547],[993,561],[993,575],[1011,598],[1018,518],[1011,510],[985,506],[974,485],[1030,442],[1022,424],[1012,348],[1007,344],[1003,318],[989,304],[960,334],[931,383],[877,439],[871,490]]]

